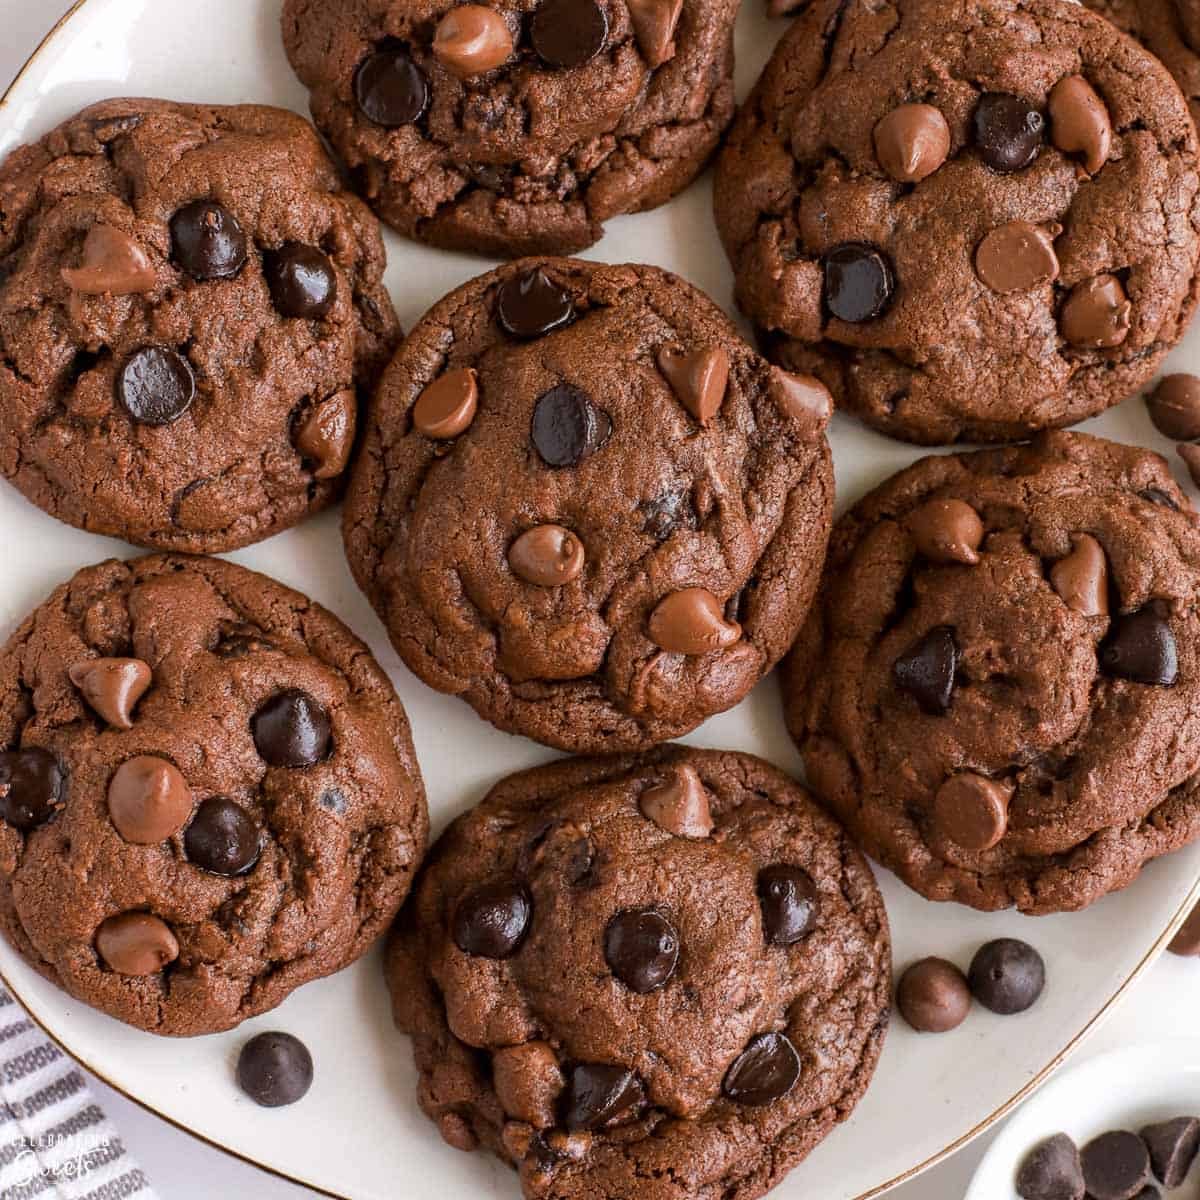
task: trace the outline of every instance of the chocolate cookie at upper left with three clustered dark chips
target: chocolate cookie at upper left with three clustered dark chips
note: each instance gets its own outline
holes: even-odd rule
[[[374,217],[274,108],[96,104],[0,167],[0,472],[156,550],[337,496],[400,329]]]

